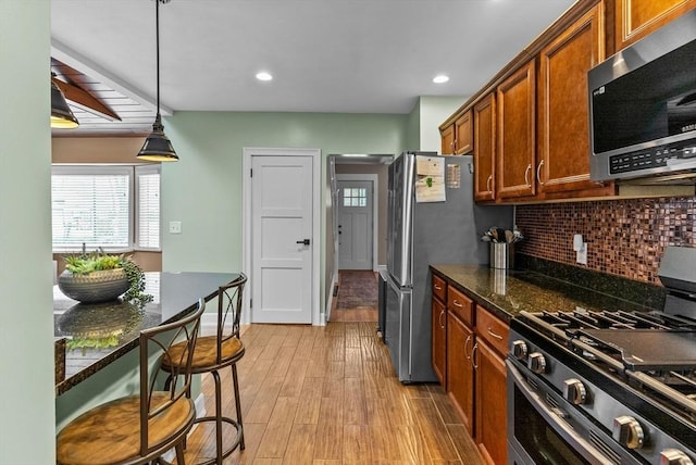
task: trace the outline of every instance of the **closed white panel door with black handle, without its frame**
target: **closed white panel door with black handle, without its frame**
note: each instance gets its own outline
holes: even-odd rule
[[[252,323],[312,323],[311,156],[251,156]]]

